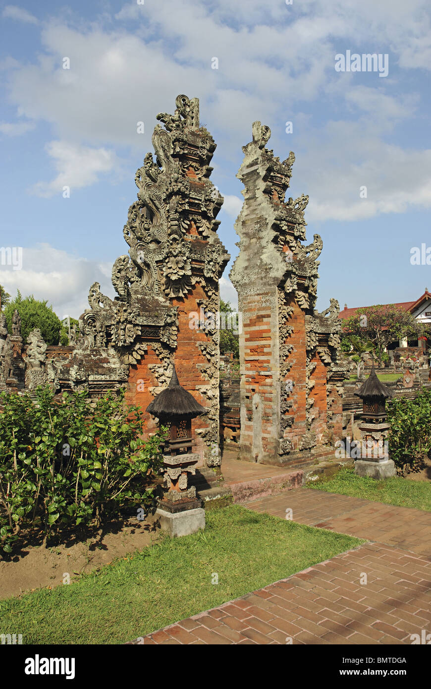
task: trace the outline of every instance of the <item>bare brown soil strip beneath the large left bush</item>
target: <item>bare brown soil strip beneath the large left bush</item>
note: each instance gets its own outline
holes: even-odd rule
[[[87,537],[76,535],[63,544],[25,544],[20,551],[0,560],[0,598],[59,586],[67,583],[67,575],[72,582],[114,559],[143,550],[159,533],[158,522],[149,513],[143,522],[136,517],[111,522],[85,534]]]

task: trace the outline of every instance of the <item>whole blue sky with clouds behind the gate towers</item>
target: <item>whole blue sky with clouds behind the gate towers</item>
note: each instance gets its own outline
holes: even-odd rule
[[[233,258],[235,174],[260,120],[275,155],[295,152],[288,196],[310,196],[307,240],[324,241],[319,309],[431,289],[431,266],[410,265],[412,247],[431,246],[427,0],[25,1],[0,3],[0,32],[0,246],[23,247],[21,270],[0,265],[10,293],[46,298],[61,318],[85,309],[95,280],[112,295],[134,174],[156,114],[174,112],[180,93],[198,96],[218,144],[211,178]],[[346,50],[388,54],[388,76],[336,72]],[[230,267],[221,294],[235,302]]]

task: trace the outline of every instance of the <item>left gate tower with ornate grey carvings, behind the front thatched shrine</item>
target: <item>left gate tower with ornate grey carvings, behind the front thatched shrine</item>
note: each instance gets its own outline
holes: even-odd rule
[[[192,313],[219,311],[218,280],[229,254],[215,220],[223,198],[209,180],[215,151],[199,123],[199,101],[180,95],[174,115],[160,113],[152,143],[136,172],[138,200],[123,234],[129,254],[112,269],[114,300],[90,288],[80,337],[67,362],[50,363],[58,389],[87,387],[99,395],[127,387],[127,401],[147,409],[167,387],[173,364],[181,384],[207,414],[193,420],[193,452],[200,463],[220,464],[219,332],[216,318],[196,327]],[[147,414],[147,431],[158,422]]]

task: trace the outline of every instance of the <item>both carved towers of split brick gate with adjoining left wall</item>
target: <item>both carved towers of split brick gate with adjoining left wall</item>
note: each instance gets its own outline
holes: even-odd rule
[[[218,280],[230,258],[217,234],[223,198],[209,179],[215,143],[200,126],[198,99],[180,95],[174,115],[157,119],[165,126],[154,129],[155,158],[148,153],[136,172],[138,199],[123,229],[129,251],[112,269],[117,296],[94,282],[69,347],[47,347],[39,330],[25,347],[18,326],[11,336],[0,322],[0,389],[48,382],[57,393],[96,397],[125,388],[126,400],[145,410],[175,364],[181,386],[207,410],[193,420],[198,466],[219,466],[217,319],[196,327],[191,318],[220,311]],[[335,300],[314,309],[322,240],[302,245],[308,197],[284,203],[294,156],[280,163],[265,148],[269,136],[254,123],[238,174],[244,206],[231,276],[243,320],[240,456],[297,464],[341,437],[339,309]],[[154,432],[158,422],[146,415]]]

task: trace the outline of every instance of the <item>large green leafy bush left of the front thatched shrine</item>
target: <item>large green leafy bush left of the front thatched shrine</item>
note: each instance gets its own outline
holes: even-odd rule
[[[91,400],[85,392],[38,388],[0,393],[0,551],[19,533],[45,537],[79,524],[100,526],[126,504],[153,495],[164,433],[145,442],[139,407],[124,395]]]

